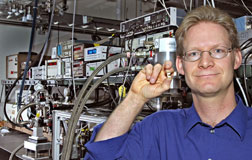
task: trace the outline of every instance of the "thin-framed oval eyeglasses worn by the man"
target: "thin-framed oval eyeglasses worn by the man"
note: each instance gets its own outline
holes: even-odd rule
[[[194,62],[199,60],[204,52],[208,52],[212,58],[221,59],[226,57],[232,50],[232,48],[226,48],[223,46],[212,48],[209,51],[191,50],[184,53],[183,59],[185,61]]]

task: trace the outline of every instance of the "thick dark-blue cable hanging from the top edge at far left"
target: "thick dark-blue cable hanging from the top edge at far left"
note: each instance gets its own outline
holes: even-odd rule
[[[26,79],[26,75],[28,72],[29,68],[29,62],[31,60],[31,52],[32,52],[32,46],[33,46],[33,38],[34,38],[34,33],[35,33],[35,27],[36,27],[36,20],[37,20],[37,7],[38,7],[38,0],[35,0],[34,2],[34,7],[33,7],[33,21],[32,21],[32,31],[31,31],[31,37],[30,37],[30,44],[29,44],[29,51],[28,51],[28,56],[26,59],[26,64],[25,64],[25,70],[23,74],[23,79],[21,82],[21,87],[19,91],[19,96],[18,96],[18,103],[17,103],[17,109],[20,109],[21,101],[22,101],[22,94],[23,94],[23,89],[24,89],[24,83]]]

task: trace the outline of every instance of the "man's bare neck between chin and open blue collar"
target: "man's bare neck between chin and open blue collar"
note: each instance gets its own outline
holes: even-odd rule
[[[215,127],[236,107],[234,91],[214,96],[193,94],[194,106],[202,122]]]

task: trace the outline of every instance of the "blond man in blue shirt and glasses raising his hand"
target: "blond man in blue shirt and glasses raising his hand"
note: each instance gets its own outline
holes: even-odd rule
[[[171,82],[171,62],[147,65],[124,101],[95,128],[86,159],[252,159],[252,109],[235,95],[233,84],[242,56],[232,18],[199,7],[185,17],[176,41],[176,67],[191,88],[192,106],[154,113],[130,129],[144,103]]]

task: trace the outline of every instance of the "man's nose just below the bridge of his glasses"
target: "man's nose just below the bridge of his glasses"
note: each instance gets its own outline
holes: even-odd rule
[[[209,68],[214,66],[214,59],[210,56],[209,51],[204,51],[201,53],[201,58],[199,60],[199,68]]]

